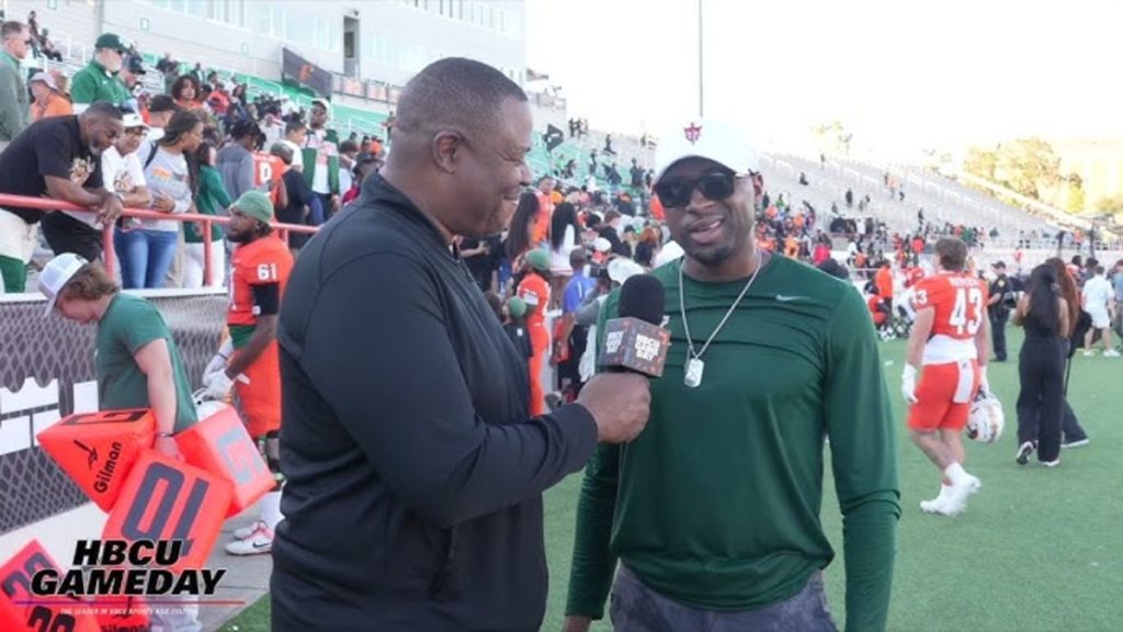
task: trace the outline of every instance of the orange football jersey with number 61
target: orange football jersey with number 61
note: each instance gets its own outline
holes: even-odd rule
[[[234,251],[230,261],[230,313],[227,315],[229,325],[256,325],[257,313],[254,308],[253,286],[280,283],[281,295],[289,282],[292,272],[292,253],[275,235],[261,237],[248,244],[239,245]]]

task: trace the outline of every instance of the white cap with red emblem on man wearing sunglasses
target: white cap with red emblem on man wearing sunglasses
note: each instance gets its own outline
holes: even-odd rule
[[[684,117],[665,128],[655,150],[656,180],[676,162],[703,157],[736,173],[759,171],[759,156],[745,133],[729,120]]]

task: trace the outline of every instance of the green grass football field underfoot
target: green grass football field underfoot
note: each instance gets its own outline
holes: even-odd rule
[[[1021,345],[1010,329],[1010,346]],[[1016,352],[995,363],[990,385],[1003,401],[1006,431],[994,445],[968,445],[967,469],[983,489],[956,518],[921,513],[939,490],[935,468],[907,440],[898,380],[904,343],[883,344],[889,395],[896,403],[902,508],[889,630],[901,632],[1092,632],[1123,630],[1123,360],[1074,359],[1069,401],[1088,431],[1088,446],[1066,450],[1057,469],[1014,463]],[[1114,394],[1114,395],[1113,395]],[[842,535],[830,468],[823,524],[839,557],[827,584],[840,628],[843,612]],[[581,475],[546,495],[550,594],[542,630],[562,629]],[[263,599],[223,630],[268,630]],[[594,630],[606,631],[601,624]]]

